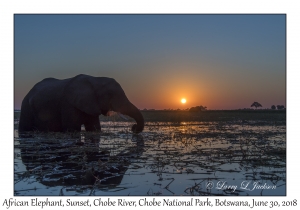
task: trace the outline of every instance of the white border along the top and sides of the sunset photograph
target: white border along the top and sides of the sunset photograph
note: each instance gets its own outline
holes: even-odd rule
[[[1,1],[0,6],[0,65],[1,65],[1,109],[0,128],[0,205],[4,198],[13,197],[13,15],[15,13],[196,13],[196,14],[253,14],[280,13],[287,14],[287,196],[284,197],[255,197],[259,200],[293,200],[299,198],[300,173],[298,166],[299,138],[297,129],[299,123],[299,7],[297,1],[161,1],[151,2],[139,0],[127,1]],[[18,197],[28,199],[32,197]],[[141,197],[130,197],[139,200]],[[55,199],[55,197],[51,197]],[[57,197],[57,199],[60,199]],[[78,198],[78,200],[86,198]],[[94,199],[94,198],[91,198]],[[115,199],[117,199],[115,197]],[[129,198],[126,198],[129,199]],[[231,197],[230,200],[245,200],[247,198]],[[248,200],[250,200],[249,198]],[[298,204],[299,205],[299,204]],[[98,207],[100,208],[100,207]],[[165,208],[165,207],[164,207]],[[182,208],[182,207],[175,207]],[[199,207],[197,207],[199,208]],[[15,208],[10,208],[15,209]],[[27,208],[29,209],[29,208]],[[32,207],[30,207],[32,209]],[[115,207],[116,209],[116,207]]]

